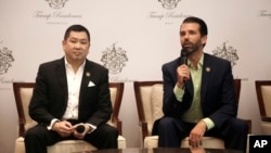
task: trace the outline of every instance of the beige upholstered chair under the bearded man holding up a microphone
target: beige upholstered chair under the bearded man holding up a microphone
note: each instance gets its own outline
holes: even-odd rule
[[[152,136],[152,128],[154,122],[162,117],[163,111],[163,81],[134,81],[134,94],[138,107],[141,144],[143,148],[157,148],[158,136]],[[237,93],[237,101],[240,99],[241,80],[235,79],[235,89]],[[249,132],[251,123],[249,125]],[[224,143],[221,139],[214,137],[204,137],[204,148],[223,149]],[[189,139],[183,139],[181,148],[189,148]]]

